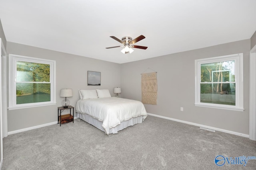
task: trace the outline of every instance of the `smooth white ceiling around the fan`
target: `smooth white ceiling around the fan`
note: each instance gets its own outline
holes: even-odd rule
[[[256,0],[0,0],[0,19],[7,41],[127,63],[250,39]],[[148,49],[106,49],[139,35]]]

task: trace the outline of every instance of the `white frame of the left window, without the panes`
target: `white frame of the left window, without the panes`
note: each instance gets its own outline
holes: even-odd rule
[[[27,104],[16,104],[16,61],[24,61],[30,63],[50,64],[50,88],[51,95],[49,102],[36,102]],[[26,57],[21,55],[9,54],[9,110],[23,109],[30,107],[49,106],[56,104],[56,61],[48,59],[40,59],[34,57]]]

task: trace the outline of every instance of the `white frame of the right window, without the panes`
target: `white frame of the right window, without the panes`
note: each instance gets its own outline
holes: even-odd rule
[[[201,64],[235,61],[236,105],[200,102]],[[195,106],[244,111],[243,53],[195,60]]]

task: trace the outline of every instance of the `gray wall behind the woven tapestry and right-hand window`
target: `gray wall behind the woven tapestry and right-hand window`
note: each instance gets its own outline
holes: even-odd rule
[[[170,47],[172,48],[172,47]],[[249,134],[250,39],[121,64],[122,97],[141,101],[141,73],[157,72],[157,105],[145,105],[148,113]],[[244,111],[194,106],[196,59],[244,53]],[[146,71],[150,72],[150,71]],[[180,111],[184,107],[184,111]]]

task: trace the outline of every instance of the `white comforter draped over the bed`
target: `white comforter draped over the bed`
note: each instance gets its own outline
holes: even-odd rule
[[[90,115],[102,121],[102,127],[107,134],[109,129],[116,127],[122,121],[141,115],[143,120],[147,117],[142,102],[116,97],[78,100],[76,112]]]

